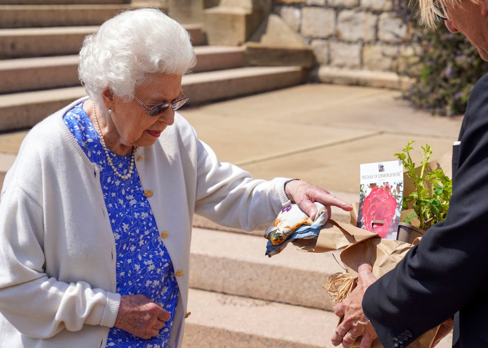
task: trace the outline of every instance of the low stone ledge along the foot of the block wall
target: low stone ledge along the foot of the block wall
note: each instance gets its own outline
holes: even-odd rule
[[[412,81],[393,72],[354,70],[320,66],[309,73],[309,79],[324,83],[360,85],[393,90],[408,88]]]

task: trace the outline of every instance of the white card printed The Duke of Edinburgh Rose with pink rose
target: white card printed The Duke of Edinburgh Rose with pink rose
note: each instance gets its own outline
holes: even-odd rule
[[[403,203],[403,163],[388,161],[360,165],[357,227],[396,239]]]

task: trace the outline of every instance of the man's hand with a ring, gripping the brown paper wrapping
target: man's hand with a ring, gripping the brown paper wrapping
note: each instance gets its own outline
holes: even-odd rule
[[[376,281],[371,272],[370,264],[364,263],[358,269],[358,281],[356,288],[340,304],[334,307],[335,315],[344,316],[342,323],[335,329],[332,335],[332,344],[343,344],[344,347],[352,347],[354,341],[360,336],[361,348],[370,348],[373,340],[378,337],[373,325],[367,320],[362,311],[362,298],[366,289]]]

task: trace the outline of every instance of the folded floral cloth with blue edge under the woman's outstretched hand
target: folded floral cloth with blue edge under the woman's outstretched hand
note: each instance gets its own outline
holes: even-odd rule
[[[296,204],[282,209],[272,226],[264,232],[268,240],[266,255],[271,257],[280,253],[290,242],[297,239],[312,239],[319,235],[320,229],[328,219],[325,207],[315,202],[317,215],[315,220],[303,212]]]

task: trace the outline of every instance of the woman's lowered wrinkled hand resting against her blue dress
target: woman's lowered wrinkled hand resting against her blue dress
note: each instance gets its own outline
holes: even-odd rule
[[[171,314],[144,295],[122,295],[115,327],[148,339],[159,335]]]

